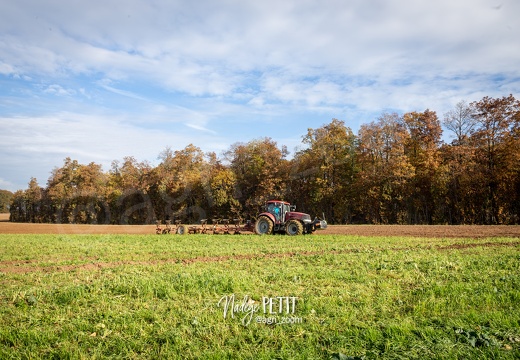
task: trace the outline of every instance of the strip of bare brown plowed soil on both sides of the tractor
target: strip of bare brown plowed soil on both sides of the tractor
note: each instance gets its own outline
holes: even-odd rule
[[[11,223],[0,214],[0,234],[154,234],[155,225]],[[443,238],[520,237],[518,225],[331,225],[316,234]]]

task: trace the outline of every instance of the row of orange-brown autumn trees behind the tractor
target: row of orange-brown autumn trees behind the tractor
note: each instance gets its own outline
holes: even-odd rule
[[[443,128],[453,140],[442,141]],[[383,113],[355,135],[333,119],[308,129],[292,158],[270,138],[221,156],[193,144],[157,166],[133,157],[108,172],[70,158],[41,187],[32,178],[10,205],[16,222],[150,224],[253,219],[289,201],[329,223],[518,224],[520,102],[512,95],[435,111]]]

